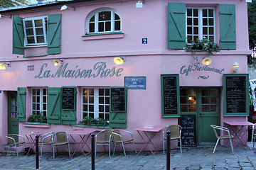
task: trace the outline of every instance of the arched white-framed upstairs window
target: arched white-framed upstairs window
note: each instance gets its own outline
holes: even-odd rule
[[[95,11],[87,21],[87,33],[108,33],[121,31],[121,18],[114,10]]]

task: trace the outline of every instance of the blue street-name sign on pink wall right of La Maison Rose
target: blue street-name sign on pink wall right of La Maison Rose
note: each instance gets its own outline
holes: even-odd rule
[[[146,77],[124,77],[127,89],[146,89]]]

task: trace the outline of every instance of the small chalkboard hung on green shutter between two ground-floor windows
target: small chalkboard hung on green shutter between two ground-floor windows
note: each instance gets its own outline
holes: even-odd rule
[[[75,109],[75,88],[73,87],[62,88],[62,108],[65,110]]]

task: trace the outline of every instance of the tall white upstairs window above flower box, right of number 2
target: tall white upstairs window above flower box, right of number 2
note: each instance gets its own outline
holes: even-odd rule
[[[197,39],[215,42],[215,11],[214,8],[186,8],[187,42]]]

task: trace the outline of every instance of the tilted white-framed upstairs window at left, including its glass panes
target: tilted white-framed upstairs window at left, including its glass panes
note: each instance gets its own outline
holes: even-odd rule
[[[25,47],[47,45],[47,17],[23,19]]]

